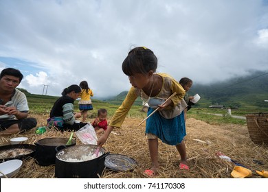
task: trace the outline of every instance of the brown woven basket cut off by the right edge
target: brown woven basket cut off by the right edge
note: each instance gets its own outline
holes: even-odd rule
[[[268,113],[246,115],[249,136],[256,144],[268,144]]]

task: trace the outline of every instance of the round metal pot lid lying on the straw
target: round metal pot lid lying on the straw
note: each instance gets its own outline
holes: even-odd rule
[[[122,154],[109,154],[105,158],[104,165],[107,169],[113,171],[128,171],[133,170],[137,166],[137,161]]]

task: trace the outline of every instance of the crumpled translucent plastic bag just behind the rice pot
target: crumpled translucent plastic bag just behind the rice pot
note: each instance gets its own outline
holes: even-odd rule
[[[98,137],[90,123],[76,131],[76,136],[83,144],[97,145]]]

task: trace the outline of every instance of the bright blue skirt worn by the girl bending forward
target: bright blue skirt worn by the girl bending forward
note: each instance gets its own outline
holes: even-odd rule
[[[147,115],[153,112],[153,108],[148,108]],[[173,119],[165,119],[159,112],[155,112],[146,120],[146,134],[155,134],[163,143],[168,145],[178,145],[186,136],[186,125],[184,112]]]

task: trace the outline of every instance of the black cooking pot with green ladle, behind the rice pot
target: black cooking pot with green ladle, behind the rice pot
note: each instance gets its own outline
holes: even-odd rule
[[[56,147],[70,147],[76,145],[76,138],[71,139],[71,145],[66,145],[68,138],[45,138],[34,143],[36,145],[35,158],[38,165],[48,166],[55,164]]]

